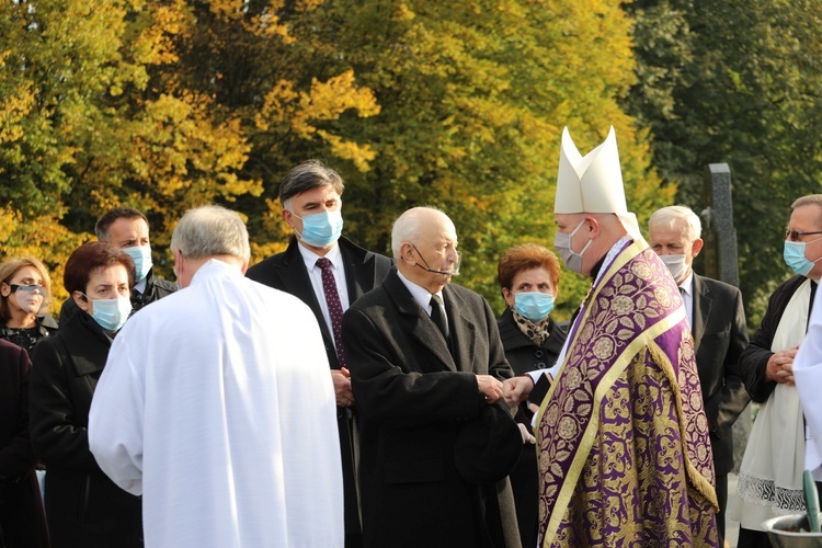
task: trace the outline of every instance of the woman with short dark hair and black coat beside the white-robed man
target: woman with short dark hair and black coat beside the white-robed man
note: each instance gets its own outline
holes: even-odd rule
[[[129,312],[134,262],[109,242],[85,243],[66,262],[64,286],[80,311],[42,341],[32,357],[30,422],[35,454],[46,465],[46,517],[52,546],[139,547],[139,498],[100,469],[89,450],[91,398],[112,340]]]

